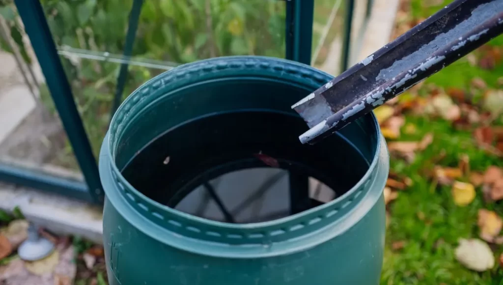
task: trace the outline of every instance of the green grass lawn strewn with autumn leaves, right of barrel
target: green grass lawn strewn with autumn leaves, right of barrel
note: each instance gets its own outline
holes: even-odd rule
[[[433,2],[438,5],[431,5]],[[397,25],[427,18],[449,2],[412,0],[403,3],[402,16],[406,17],[398,17],[397,21],[402,20],[402,23]],[[428,102],[439,93],[455,94],[455,91],[462,90],[466,98],[470,98],[467,100],[469,105],[478,113],[484,113],[486,110],[479,106],[484,94],[502,88],[503,63],[497,56],[501,51],[503,37],[500,36],[401,97],[422,98]],[[487,61],[493,68],[488,68],[484,63]],[[473,88],[475,78],[482,79],[486,86]],[[462,105],[456,100],[453,102]],[[502,251],[500,245],[490,245],[495,265],[481,273],[467,269],[455,258],[460,238],[479,238],[479,209],[493,210],[502,216],[501,201],[485,200],[479,186],[475,188],[476,197],[471,203],[456,205],[452,186],[449,183],[442,185],[428,175],[435,166],[457,167],[463,156],[469,157],[471,172],[483,173],[489,166],[503,167],[503,159],[478,147],[473,136],[474,130],[484,122],[490,128],[501,126],[501,115],[482,123],[470,123],[463,130],[456,128],[452,120],[430,114],[409,111],[398,115],[404,116],[405,123],[399,137],[387,139],[388,143],[421,140],[426,133],[433,133],[434,140],[427,149],[417,152],[412,162],[391,158],[391,172],[410,178],[412,183],[405,190],[397,191],[396,199],[387,205],[390,220],[381,284],[503,284],[503,269],[498,265]],[[454,180],[470,181],[466,174]]]

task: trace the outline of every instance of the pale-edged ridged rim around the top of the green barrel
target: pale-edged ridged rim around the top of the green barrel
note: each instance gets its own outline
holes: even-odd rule
[[[147,198],[142,193],[134,189],[134,187],[132,187],[124,179],[115,163],[113,163],[113,147],[117,144],[117,141],[114,141],[113,133],[115,131],[115,134],[120,137],[120,133],[118,134],[118,132],[121,130],[118,129],[117,125],[122,124],[122,120],[128,117],[128,111],[132,109],[131,106],[128,107],[128,105],[137,104],[139,100],[136,97],[145,94],[143,90],[145,86],[150,87],[157,84],[159,81],[162,82],[163,79],[170,73],[172,76],[177,76],[177,74],[180,73],[186,74],[187,69],[194,72],[194,70],[197,70],[198,68],[224,69],[224,67],[233,68],[232,66],[241,71],[247,70],[246,68],[260,68],[263,70],[267,70],[267,68],[276,68],[275,70],[278,68],[284,68],[286,70],[291,67],[297,69],[295,72],[299,74],[299,77],[310,78],[313,82],[320,82],[320,79],[321,81],[328,81],[331,78],[331,76],[324,74],[311,66],[284,59],[258,56],[232,56],[225,58],[212,58],[201,62],[185,64],[151,79],[133,92],[133,94],[129,96],[118,109],[112,119],[111,128],[107,133],[100,153],[100,173],[105,192],[107,193],[107,198],[114,207],[121,212],[121,215],[124,215],[126,220],[133,223],[133,225],[139,229],[143,228],[142,231],[150,236],[151,234],[148,233],[149,230],[147,228],[152,229],[152,226],[157,226],[158,229],[164,229],[166,233],[176,233],[182,238],[190,238],[192,242],[216,243],[220,246],[246,245],[247,250],[250,250],[253,248],[264,249],[267,248],[268,244],[289,242],[291,240],[310,235],[312,232],[327,228],[327,226],[333,227],[334,224],[341,224],[341,220],[344,220],[341,218],[343,216],[347,217],[348,215],[352,215],[352,212],[356,211],[356,207],[360,208],[358,211],[362,210],[362,206],[366,208],[363,209],[365,212],[370,210],[370,208],[381,196],[384,186],[383,183],[385,183],[385,181],[381,181],[378,183],[379,185],[375,185],[374,187],[369,186],[374,184],[376,180],[382,180],[380,179],[381,177],[378,177],[379,175],[377,175],[377,172],[379,172],[379,169],[381,169],[382,172],[382,164],[388,163],[387,161],[383,162],[383,160],[387,159],[387,150],[385,142],[380,136],[379,125],[373,114],[369,114],[363,118],[371,120],[373,127],[372,135],[375,136],[377,144],[372,162],[362,179],[360,179],[354,187],[341,197],[316,208],[283,219],[254,224],[228,224],[195,217]],[[274,76],[272,70],[269,70],[268,76]],[[311,83],[311,86],[313,84],[314,83]],[[322,82],[320,82],[319,85],[321,84]],[[383,152],[385,153],[384,158]],[[385,176],[387,177],[387,170],[385,172]],[[118,199],[118,197],[120,198]],[[145,218],[148,220],[148,223],[144,223],[145,219],[143,219],[144,222],[140,224],[138,224],[137,221],[134,222],[136,219],[132,219],[132,212],[136,212],[137,214],[139,213],[139,215],[136,216]],[[361,216],[360,219],[361,218],[363,218],[363,216]],[[359,221],[359,219],[349,220],[351,220],[351,223],[353,224]],[[348,224],[348,221],[342,224]],[[342,230],[347,227],[339,228]],[[333,237],[344,232],[341,232],[341,230],[335,232],[332,231],[330,236]],[[174,242],[174,240],[167,241],[165,238],[154,238],[160,239],[165,243]],[[178,246],[184,247],[181,244]],[[263,253],[264,252],[262,252],[262,254]]]

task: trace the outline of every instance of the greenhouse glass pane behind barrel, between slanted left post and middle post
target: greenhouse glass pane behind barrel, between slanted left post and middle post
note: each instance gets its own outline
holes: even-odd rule
[[[129,63],[122,101],[179,64],[224,55],[285,55],[284,1],[144,1],[127,59],[122,53],[132,0],[42,4],[95,156],[108,129],[120,63]]]

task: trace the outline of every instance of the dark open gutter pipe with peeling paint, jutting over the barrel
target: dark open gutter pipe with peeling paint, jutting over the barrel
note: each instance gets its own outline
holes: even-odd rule
[[[292,106],[305,144],[336,132],[503,33],[503,0],[457,0]]]

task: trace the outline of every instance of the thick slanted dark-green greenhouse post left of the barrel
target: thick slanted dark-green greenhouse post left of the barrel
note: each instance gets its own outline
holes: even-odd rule
[[[42,6],[38,0],[15,0],[15,4],[39,60],[47,87],[74,150],[78,165],[89,186],[90,194],[96,202],[102,203],[104,193],[96,160],[75,106],[70,83],[64,73]]]

